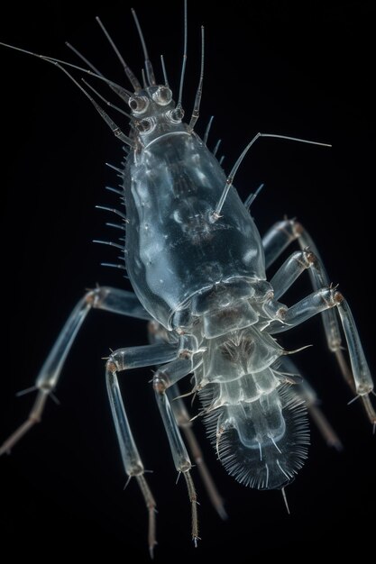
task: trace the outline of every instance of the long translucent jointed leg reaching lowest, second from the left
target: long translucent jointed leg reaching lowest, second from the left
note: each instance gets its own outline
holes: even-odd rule
[[[128,349],[115,350],[109,359],[107,359],[105,366],[107,392],[124,469],[129,478],[136,478],[149,513],[148,542],[151,557],[154,545],[156,544],[156,503],[144,476],[142,459],[134,442],[133,433],[125,413],[123,398],[119,389],[116,373],[127,368],[142,368],[153,364],[159,364],[161,362],[169,362],[171,359],[176,359],[177,355],[178,346],[171,346],[166,343],[164,345],[156,343],[144,347],[129,347]]]

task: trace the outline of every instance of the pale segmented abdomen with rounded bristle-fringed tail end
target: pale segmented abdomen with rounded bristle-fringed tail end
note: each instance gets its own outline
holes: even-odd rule
[[[205,375],[207,360],[197,375],[204,383],[199,393],[206,428],[218,458],[239,482],[258,489],[285,487],[307,458],[307,410],[278,372],[283,351],[277,343],[273,355],[271,338],[254,327],[235,333],[220,343],[212,340],[208,348],[216,369],[224,364],[223,375]],[[231,362],[236,374],[228,369]]]

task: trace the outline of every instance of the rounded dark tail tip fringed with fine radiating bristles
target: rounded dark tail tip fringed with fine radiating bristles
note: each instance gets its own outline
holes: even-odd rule
[[[213,401],[215,389],[200,392]],[[206,431],[227,472],[244,486],[287,486],[307,458],[307,409],[293,387],[283,385],[260,400],[226,405],[207,414]],[[282,432],[283,431],[283,432]]]

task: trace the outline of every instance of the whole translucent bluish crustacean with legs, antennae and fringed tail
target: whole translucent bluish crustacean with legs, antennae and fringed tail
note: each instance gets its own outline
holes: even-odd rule
[[[261,239],[249,214],[252,198],[243,204],[234,189],[234,174],[261,134],[253,138],[226,177],[215,154],[206,149],[207,135],[201,141],[193,131],[202,80],[192,118],[184,123],[182,88],[175,105],[165,73],[164,83],[158,84],[145,47],[144,55],[146,86],[123,59],[133,92],[103,79],[130,107],[129,136],[90,97],[129,148],[124,165],[118,169],[123,177],[126,219],[123,212],[116,213],[124,220],[125,265],[134,294],[112,287],[87,292],[41,368],[36,382],[38,396],[28,420],[5,441],[0,452],[11,450],[24,432],[40,421],[69,348],[92,308],[149,320],[151,344],[112,352],[106,361],[106,381],[125,471],[137,479],[149,509],[152,550],[155,502],[124,411],[117,385],[119,371],[159,367],[153,387],[175,466],[187,481],[195,541],[196,492],[179,427],[196,452],[197,444],[190,416],[179,397],[179,380],[193,374],[192,394],[197,393],[203,405],[199,415],[204,417],[226,470],[244,485],[259,489],[280,488],[283,492],[302,466],[308,443],[306,407],[318,419],[327,440],[337,441],[315,405],[315,393],[298,382],[299,370],[290,351],[284,350],[274,335],[322,314],[329,349],[335,353],[344,378],[362,398],[373,424],[375,414],[369,399],[371,375],[352,314],[344,296],[330,285],[315,243],[294,220],[277,223]],[[68,72],[61,66],[64,63],[42,59]],[[89,74],[99,73],[94,69]],[[267,281],[265,268],[292,241],[298,241],[299,250]],[[305,270],[313,293],[287,307],[280,298]],[[338,319],[352,371],[342,352]],[[204,462],[198,456],[196,462],[217,511],[224,514]]]

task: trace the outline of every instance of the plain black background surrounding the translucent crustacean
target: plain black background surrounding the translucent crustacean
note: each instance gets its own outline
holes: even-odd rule
[[[160,77],[163,53],[176,93],[182,46],[182,2],[134,2]],[[95,23],[100,15],[136,71],[142,54],[127,2],[38,3],[3,14],[1,40],[75,62],[71,41],[105,74],[128,86]],[[236,177],[242,197],[265,183],[252,214],[261,232],[288,214],[307,226],[331,279],[353,307],[371,368],[373,343],[375,135],[374,3],[340,2],[188,6],[189,114],[199,70],[199,25],[206,25],[206,76],[197,132],[216,115],[212,146],[223,138],[228,171],[256,132],[276,132],[333,143],[321,149],[261,140]],[[47,63],[0,50],[3,328],[1,436],[13,431],[32,404],[16,391],[32,385],[70,309],[96,283],[128,287],[118,272],[101,268],[115,252],[92,244],[109,238],[107,217],[95,205],[117,204],[104,186],[115,183],[105,161],[118,164],[121,146],[67,77]],[[78,73],[79,76],[79,73]],[[94,84],[94,83],[93,83]],[[105,92],[105,88],[102,89]],[[105,92],[106,94],[106,92]],[[117,100],[114,100],[117,102]],[[114,116],[122,123],[122,117]],[[124,124],[126,132],[126,125]],[[289,303],[309,292],[306,281]],[[44,422],[10,457],[0,460],[1,534],[14,557],[55,555],[148,561],[146,512],[135,484],[123,492],[124,473],[105,393],[109,347],[146,343],[145,323],[93,313],[79,334],[57,390],[60,407],[47,406]],[[360,402],[348,406],[344,387],[318,320],[299,328],[290,348],[313,343],[299,365],[315,383],[323,407],[344,441],[326,448],[312,430],[305,468],[288,488],[291,515],[279,492],[239,486],[216,461],[197,425],[206,458],[230,515],[222,523],[197,489],[202,541],[189,536],[189,507],[154,405],[149,368],[122,376],[134,434],[158,501],[156,561],[201,562],[226,551],[237,562],[305,558],[308,554],[364,556],[374,531],[375,438]],[[195,473],[196,474],[196,473]],[[44,548],[45,545],[49,547]],[[130,554],[136,550],[135,556]]]

